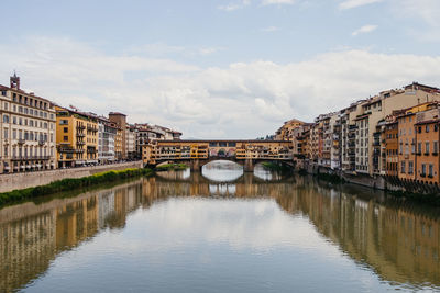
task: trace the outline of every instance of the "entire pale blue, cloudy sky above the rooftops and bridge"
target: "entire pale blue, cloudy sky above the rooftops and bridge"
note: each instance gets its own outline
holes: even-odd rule
[[[256,138],[413,81],[440,87],[439,0],[18,0],[0,84],[183,138]]]

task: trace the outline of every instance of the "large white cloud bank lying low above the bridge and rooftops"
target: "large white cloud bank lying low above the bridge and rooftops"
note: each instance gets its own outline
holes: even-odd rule
[[[22,86],[59,104],[129,122],[150,122],[184,137],[255,138],[292,117],[312,121],[413,80],[439,86],[440,57],[340,50],[304,61],[199,67],[170,58],[110,54],[69,38],[0,44],[0,83],[13,69]]]

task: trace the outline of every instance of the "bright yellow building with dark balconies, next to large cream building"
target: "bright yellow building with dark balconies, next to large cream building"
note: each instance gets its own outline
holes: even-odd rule
[[[98,162],[98,120],[91,113],[55,106],[59,167]]]

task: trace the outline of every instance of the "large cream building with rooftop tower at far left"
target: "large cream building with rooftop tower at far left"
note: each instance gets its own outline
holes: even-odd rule
[[[54,105],[20,86],[0,86],[0,173],[55,169]]]

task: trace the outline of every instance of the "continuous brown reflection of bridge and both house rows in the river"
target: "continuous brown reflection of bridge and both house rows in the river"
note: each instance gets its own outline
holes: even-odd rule
[[[438,211],[400,205],[384,194],[373,200],[376,193],[332,189],[304,177],[266,181],[244,173],[217,182],[200,173],[162,173],[37,205],[4,207],[0,210],[0,288],[25,286],[43,275],[61,252],[101,230],[122,229],[133,211],[170,196],[273,199],[288,214],[308,217],[322,236],[382,280],[440,286]]]

